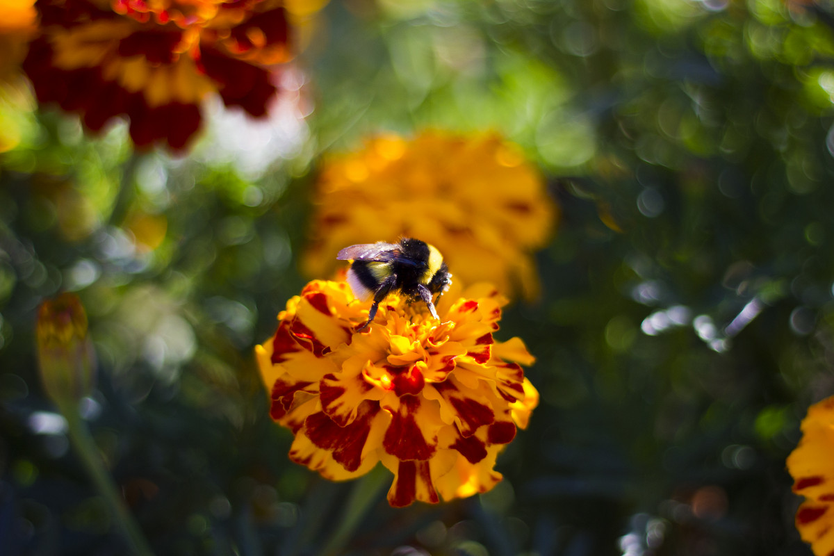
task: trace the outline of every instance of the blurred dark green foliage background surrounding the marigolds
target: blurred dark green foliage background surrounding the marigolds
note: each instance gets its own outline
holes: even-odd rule
[[[216,110],[188,157],[15,114],[5,553],[124,551],[38,385],[35,310],[62,289],[100,362],[84,414],[157,553],[323,546],[352,487],[289,462],[252,347],[314,278],[296,262],[319,155],[425,127],[499,130],[560,204],[543,296],[500,331],[538,358],[542,402],[498,488],[380,498],[346,550],[810,553],[784,462],[834,393],[832,29],[829,3],[798,0],[333,2],[284,70],[294,103],[258,128]]]

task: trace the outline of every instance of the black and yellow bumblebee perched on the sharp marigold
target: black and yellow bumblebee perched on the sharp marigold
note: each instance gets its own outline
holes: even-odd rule
[[[402,238],[399,243],[351,245],[339,251],[336,258],[351,261],[348,283],[354,295],[363,301],[374,297],[368,321],[357,332],[368,328],[376,316],[379,302],[391,292],[403,293],[409,303],[422,300],[431,316],[440,320],[432,298],[449,289],[452,275],[435,246],[420,239]]]

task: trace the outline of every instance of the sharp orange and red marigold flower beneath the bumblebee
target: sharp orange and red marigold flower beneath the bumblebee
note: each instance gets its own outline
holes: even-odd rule
[[[534,361],[524,343],[492,336],[505,303],[491,286],[446,293],[438,322],[392,293],[354,333],[370,302],[344,282],[307,284],[255,349],[272,418],[295,435],[289,457],[331,480],[382,462],[392,506],[490,490],[539,398],[518,364]]]

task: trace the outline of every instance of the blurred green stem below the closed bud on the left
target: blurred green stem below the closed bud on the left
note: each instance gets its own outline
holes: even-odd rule
[[[73,443],[76,453],[81,458],[84,468],[93,483],[98,489],[98,493],[104,497],[110,511],[118,522],[118,526],[122,528],[124,536],[127,538],[132,552],[137,556],[153,556],[153,551],[148,546],[148,541],[138,527],[133,516],[125,506],[122,495],[118,492],[113,478],[104,468],[104,460],[101,453],[98,451],[98,446],[93,441],[90,431],[86,423],[81,420],[78,415],[78,408],[75,402],[64,402],[59,404],[61,413],[67,419],[69,429],[69,439]]]

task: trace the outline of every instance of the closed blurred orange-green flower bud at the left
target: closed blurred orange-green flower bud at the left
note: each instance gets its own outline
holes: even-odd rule
[[[74,293],[61,293],[38,308],[38,363],[43,390],[53,402],[77,402],[93,389],[95,353],[87,313]]]

